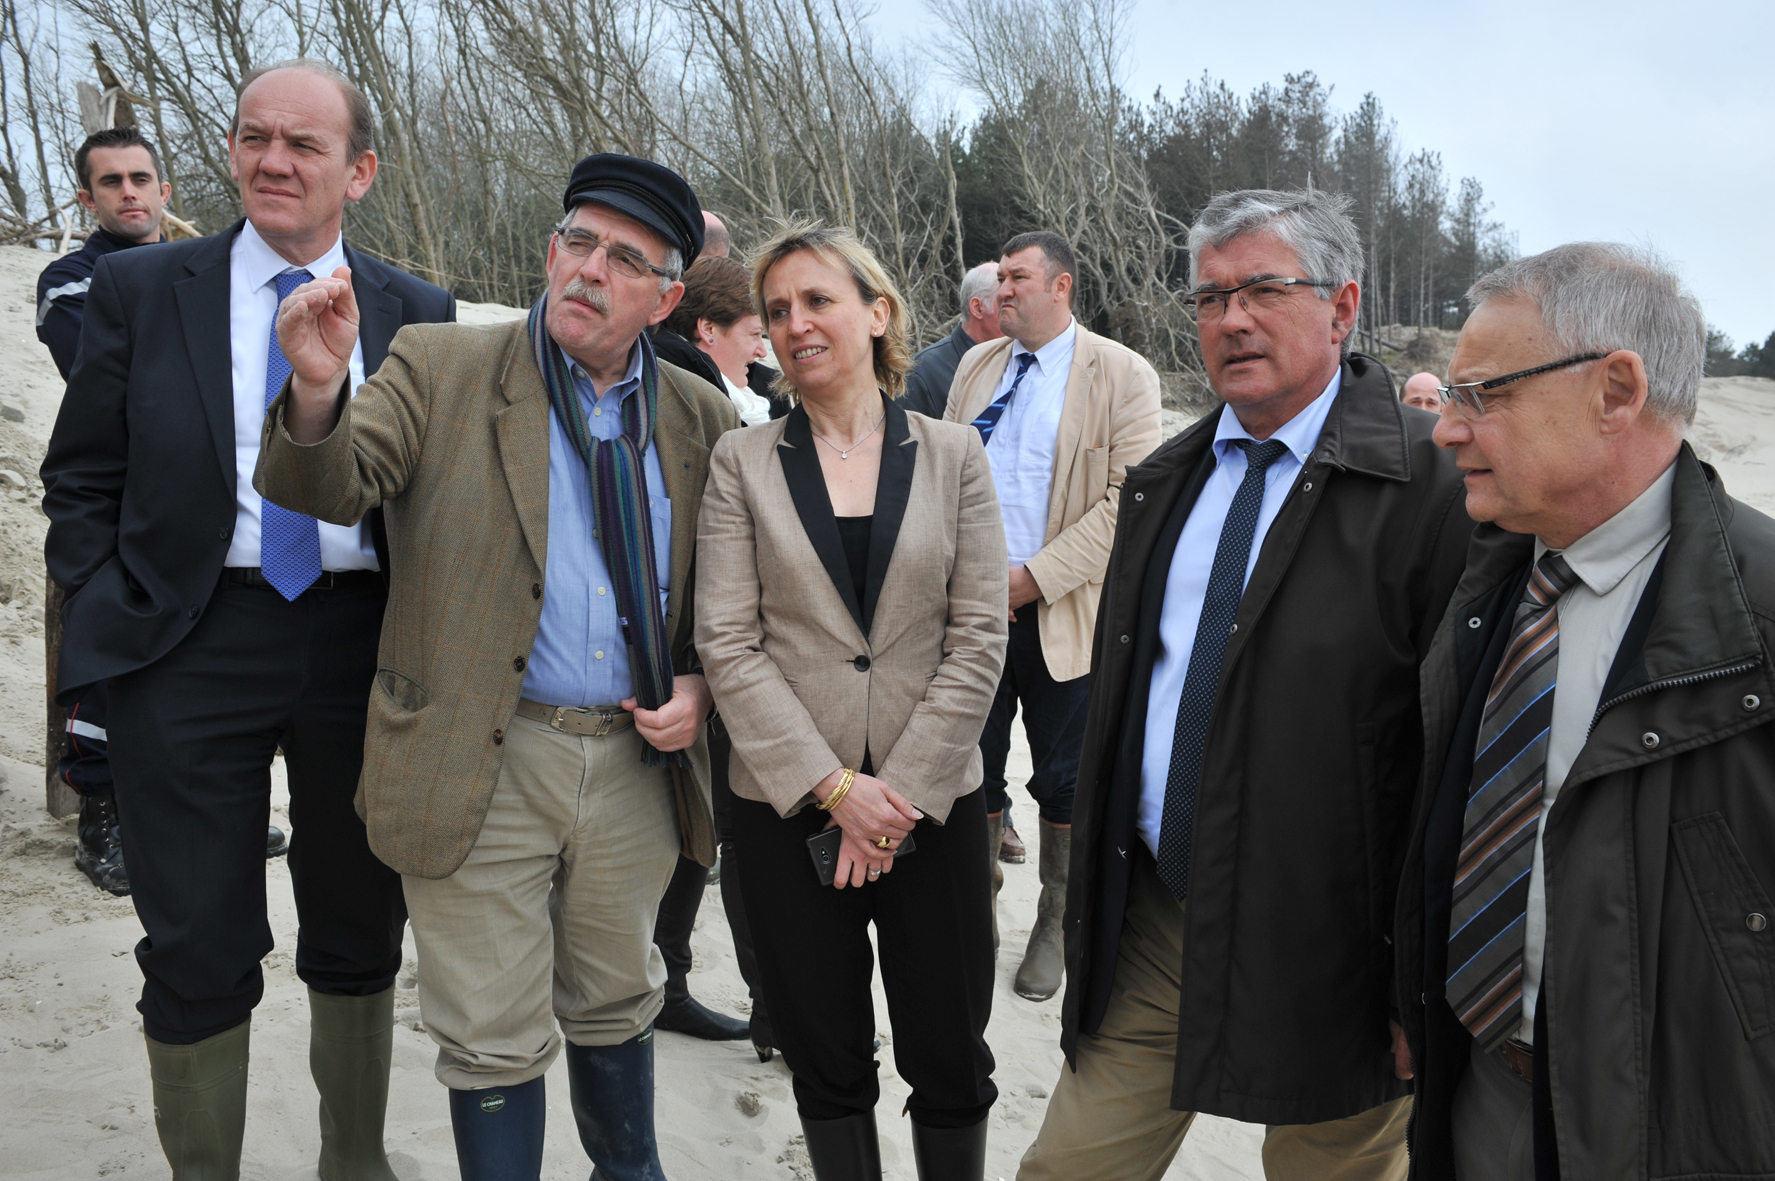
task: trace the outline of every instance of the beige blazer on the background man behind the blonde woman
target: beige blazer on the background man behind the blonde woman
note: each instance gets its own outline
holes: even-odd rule
[[[944,419],[973,423],[1010,364],[1010,337],[974,345],[955,369]],[[1042,588],[1042,657],[1054,680],[1092,671],[1092,630],[1122,476],[1159,446],[1159,375],[1134,350],[1079,325],[1054,442],[1047,538],[1026,565]]]

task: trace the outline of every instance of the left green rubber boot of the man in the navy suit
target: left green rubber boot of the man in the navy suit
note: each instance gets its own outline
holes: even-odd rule
[[[192,1046],[147,1042],[154,1131],[172,1181],[240,1181],[247,1135],[247,1042],[252,1021]]]

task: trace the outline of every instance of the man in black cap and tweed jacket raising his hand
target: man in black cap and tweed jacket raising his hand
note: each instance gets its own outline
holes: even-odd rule
[[[596,1176],[664,1176],[653,920],[680,851],[715,856],[690,572],[708,451],[740,423],[644,332],[701,206],[609,153],[563,206],[525,321],[403,329],[355,398],[344,268],[298,288],[256,474],[291,510],[389,524],[359,808],[403,876],[465,1181],[540,1174],[563,1037]]]

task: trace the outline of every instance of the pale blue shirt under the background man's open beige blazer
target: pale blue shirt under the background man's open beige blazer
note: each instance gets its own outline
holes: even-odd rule
[[[1069,320],[1060,336],[1035,350],[1035,362],[1022,375],[1017,396],[1005,407],[987,439],[987,462],[1005,513],[1005,545],[1014,567],[1028,563],[1047,543],[1054,442],[1060,437],[1060,412],[1067,405],[1067,378],[1072,375],[1072,346],[1077,339],[1079,323]],[[1005,376],[987,405],[1005,396],[1017,378],[1017,359],[1028,352],[1021,343],[1012,343]]]

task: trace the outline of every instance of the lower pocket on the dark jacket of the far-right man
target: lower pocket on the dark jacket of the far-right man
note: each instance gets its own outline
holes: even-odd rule
[[[1775,908],[1750,870],[1725,815],[1681,820],[1670,828],[1676,860],[1700,915],[1725,991],[1732,996],[1745,1037],[1761,1037],[1775,1025]]]

